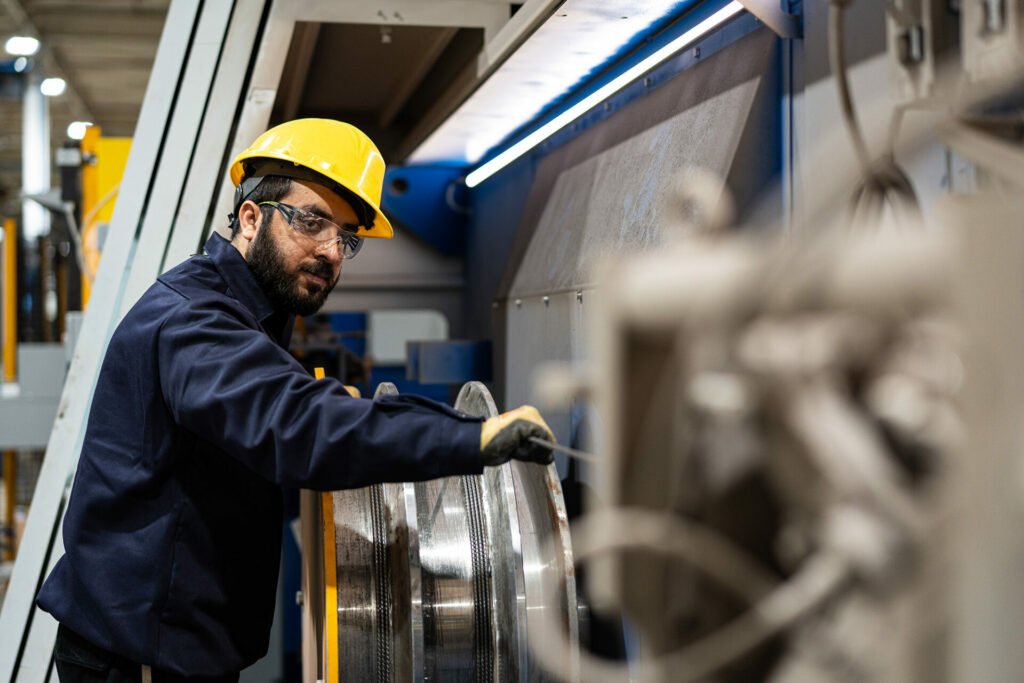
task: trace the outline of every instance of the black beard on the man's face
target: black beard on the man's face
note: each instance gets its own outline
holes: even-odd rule
[[[256,233],[256,238],[249,245],[246,261],[274,310],[284,310],[296,315],[312,315],[319,310],[327,295],[338,282],[333,280],[334,268],[330,263],[321,260],[304,263],[299,266],[299,271],[312,273],[330,283],[323,289],[316,284],[310,284],[310,293],[305,294],[299,283],[299,272],[286,270],[285,259],[278,249],[276,242],[270,237],[269,229],[262,229]]]

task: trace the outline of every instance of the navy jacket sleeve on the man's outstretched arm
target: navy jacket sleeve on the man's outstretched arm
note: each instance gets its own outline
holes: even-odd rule
[[[480,420],[418,396],[353,398],[315,380],[228,301],[190,301],[161,328],[174,421],[261,476],[332,490],[482,471]]]

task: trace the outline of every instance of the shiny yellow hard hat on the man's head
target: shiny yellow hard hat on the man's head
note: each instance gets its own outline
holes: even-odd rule
[[[357,214],[361,207],[354,206],[357,202],[352,200],[366,203],[368,211],[359,226],[359,237],[394,234],[380,209],[384,158],[373,140],[350,124],[330,119],[296,119],[274,126],[234,158],[230,175],[236,186],[254,175],[285,175],[319,182],[353,204]],[[325,178],[329,182],[324,182]],[[252,191],[252,187],[247,189],[243,195]]]

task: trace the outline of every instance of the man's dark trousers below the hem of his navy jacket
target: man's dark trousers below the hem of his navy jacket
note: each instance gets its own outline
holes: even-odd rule
[[[57,628],[53,660],[60,683],[143,683],[142,666],[97,647],[62,624]],[[239,675],[187,678],[152,670],[146,683],[238,683]]]

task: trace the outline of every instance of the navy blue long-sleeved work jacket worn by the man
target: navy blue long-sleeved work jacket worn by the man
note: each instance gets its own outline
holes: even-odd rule
[[[103,359],[42,609],[140,664],[237,672],[267,649],[282,486],[482,470],[479,420],[314,380],[292,324],[216,234],[139,299]]]

